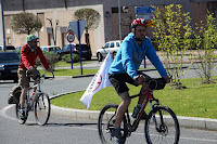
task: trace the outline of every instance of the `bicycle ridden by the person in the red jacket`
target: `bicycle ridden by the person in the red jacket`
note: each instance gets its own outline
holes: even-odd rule
[[[27,91],[27,96],[26,96],[26,101],[24,104],[25,107],[25,118],[21,118],[21,104],[16,104],[15,106],[15,113],[16,113],[16,118],[18,123],[24,125],[28,118],[28,113],[34,110],[35,114],[35,119],[37,121],[37,123],[39,126],[44,126],[49,118],[50,118],[50,110],[51,110],[51,106],[50,106],[50,99],[49,95],[47,93],[41,92],[40,89],[40,84],[42,82],[41,79],[54,79],[54,74],[52,73],[52,77],[47,77],[46,74],[43,74],[42,76],[37,75],[34,80],[37,81],[36,84],[34,84],[33,87],[28,88]],[[31,90],[36,89],[36,94],[35,97],[33,99],[33,102],[30,101],[30,93]]]

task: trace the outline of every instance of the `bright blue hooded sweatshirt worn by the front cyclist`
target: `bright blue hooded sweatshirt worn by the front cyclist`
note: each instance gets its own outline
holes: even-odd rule
[[[146,57],[155,66],[161,76],[167,76],[167,73],[156,55],[155,49],[149,37],[140,45],[135,40],[135,35],[130,32],[123,41],[115,60],[113,61],[108,73],[112,75],[127,73],[132,79],[138,76],[142,60]]]

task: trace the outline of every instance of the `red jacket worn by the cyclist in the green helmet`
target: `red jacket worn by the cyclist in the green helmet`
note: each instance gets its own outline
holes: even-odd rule
[[[37,49],[33,52],[28,44],[25,44],[21,48],[20,68],[28,69],[30,66],[34,67],[36,64],[37,56],[39,56],[41,63],[43,64],[43,67],[48,69],[49,65],[46,61],[46,57],[43,56],[41,49],[37,47]]]

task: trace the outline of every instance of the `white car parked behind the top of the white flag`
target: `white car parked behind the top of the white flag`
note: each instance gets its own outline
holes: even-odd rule
[[[115,57],[117,51],[119,50],[119,47],[122,44],[122,40],[114,40],[114,41],[108,41],[102,47],[102,49],[97,50],[97,57],[98,61],[101,62],[107,53],[110,52],[113,56]]]

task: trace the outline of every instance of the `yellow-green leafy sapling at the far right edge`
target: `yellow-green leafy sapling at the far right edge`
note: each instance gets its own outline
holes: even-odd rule
[[[201,22],[201,26],[196,27],[200,30],[200,34],[194,34],[199,61],[196,63],[196,73],[202,79],[202,83],[213,83],[212,73],[215,67],[215,53],[214,51],[217,48],[217,24],[214,14],[206,15],[206,25],[204,26]]]

